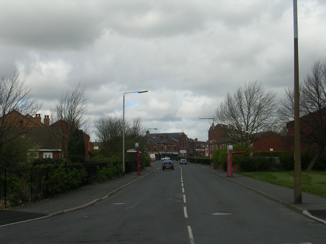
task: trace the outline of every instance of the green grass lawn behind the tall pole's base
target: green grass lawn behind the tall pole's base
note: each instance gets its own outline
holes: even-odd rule
[[[237,172],[254,179],[293,189],[294,171]],[[326,171],[301,171],[302,191],[326,198]]]

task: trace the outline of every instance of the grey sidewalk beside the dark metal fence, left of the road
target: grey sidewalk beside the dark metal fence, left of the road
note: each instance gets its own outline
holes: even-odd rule
[[[137,172],[133,172],[101,184],[76,189],[28,206],[2,210],[0,211],[0,227],[18,222],[63,215],[91,206],[156,170],[157,167],[155,168],[154,165],[151,165],[142,170],[142,174],[139,176]]]

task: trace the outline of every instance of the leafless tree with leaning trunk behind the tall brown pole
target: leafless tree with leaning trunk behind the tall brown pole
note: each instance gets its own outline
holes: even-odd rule
[[[326,145],[326,61],[317,61],[300,86],[301,140],[316,145],[317,151],[307,170],[311,170]],[[280,114],[286,123],[294,119],[294,91],[287,88]]]

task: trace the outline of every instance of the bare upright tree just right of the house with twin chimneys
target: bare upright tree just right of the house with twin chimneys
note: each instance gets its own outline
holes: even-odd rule
[[[76,85],[74,89],[68,89],[65,94],[62,94],[60,101],[56,102],[55,108],[51,109],[52,121],[55,121],[53,127],[62,128],[64,150],[73,151],[75,146],[82,143],[82,137],[79,139],[73,138],[74,130],[82,130],[88,133],[90,124],[90,114],[88,112],[89,97],[85,95],[85,86]],[[71,143],[71,142],[74,143]],[[68,148],[72,147],[72,148]],[[71,150],[70,150],[71,149]]]

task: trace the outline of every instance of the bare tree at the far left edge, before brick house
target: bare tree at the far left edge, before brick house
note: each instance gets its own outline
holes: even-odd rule
[[[20,79],[20,72],[15,70],[11,75],[1,75],[0,79],[0,156],[4,144],[21,136],[21,131],[28,125],[32,116],[42,104],[32,95],[32,87],[26,79]]]

